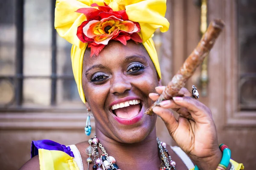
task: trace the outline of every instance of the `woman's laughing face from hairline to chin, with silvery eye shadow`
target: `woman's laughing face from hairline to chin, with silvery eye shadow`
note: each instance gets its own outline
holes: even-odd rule
[[[122,143],[140,142],[154,129],[156,116],[144,115],[148,94],[159,84],[145,48],[133,41],[110,42],[97,57],[85,51],[82,84],[96,128]]]

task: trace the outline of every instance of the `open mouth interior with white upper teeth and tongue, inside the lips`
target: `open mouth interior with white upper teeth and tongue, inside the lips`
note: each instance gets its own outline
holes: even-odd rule
[[[111,111],[119,118],[131,119],[140,113],[141,108],[140,100],[130,100],[113,105]]]

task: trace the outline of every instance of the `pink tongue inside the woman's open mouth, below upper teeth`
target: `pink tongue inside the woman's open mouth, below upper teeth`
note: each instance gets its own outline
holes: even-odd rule
[[[140,112],[140,105],[130,105],[115,110],[116,116],[123,119],[131,119]]]

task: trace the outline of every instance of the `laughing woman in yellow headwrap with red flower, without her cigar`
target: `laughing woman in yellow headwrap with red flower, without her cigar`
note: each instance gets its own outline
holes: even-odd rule
[[[156,28],[169,28],[165,3],[57,0],[55,27],[73,44],[73,73],[80,97],[95,118],[96,136],[70,147],[33,142],[34,157],[21,170],[188,170],[194,164],[200,170],[229,170],[233,164],[236,170],[243,168],[236,162],[221,163],[226,154],[221,150],[228,149],[218,146],[211,112],[187,89],[154,107],[156,115],[143,114],[164,90],[151,36]],[[178,120],[170,108],[180,114]],[[157,139],[157,115],[189,157]],[[87,123],[89,134],[89,119]]]

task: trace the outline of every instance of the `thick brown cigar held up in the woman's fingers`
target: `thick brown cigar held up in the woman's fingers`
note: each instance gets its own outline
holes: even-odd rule
[[[159,103],[163,100],[172,99],[173,96],[177,96],[180,89],[184,87],[186,81],[194,74],[195,69],[203,62],[204,58],[208,55],[212,49],[215,40],[224,28],[224,22],[222,20],[214,20],[209,24],[207,31],[204,33],[201,40],[198,42],[197,47],[192,51],[186,61],[183,63],[180,70],[172,78],[172,81],[168,83],[163,93],[159,96],[157,101],[145,111],[147,115],[154,115],[153,108],[159,106]]]

